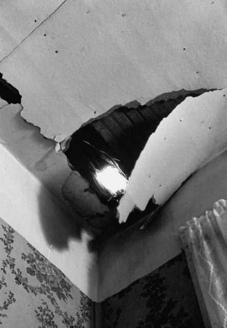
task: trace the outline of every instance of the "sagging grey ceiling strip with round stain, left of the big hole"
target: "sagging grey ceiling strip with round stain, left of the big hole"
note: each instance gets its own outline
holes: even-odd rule
[[[0,142],[58,199],[71,170],[63,153],[55,152],[55,142],[40,134],[20,113],[22,106],[7,105],[0,111]]]

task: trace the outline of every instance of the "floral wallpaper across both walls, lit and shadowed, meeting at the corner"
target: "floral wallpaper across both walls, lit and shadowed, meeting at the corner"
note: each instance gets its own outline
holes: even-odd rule
[[[0,328],[204,328],[181,253],[92,302],[0,218]]]

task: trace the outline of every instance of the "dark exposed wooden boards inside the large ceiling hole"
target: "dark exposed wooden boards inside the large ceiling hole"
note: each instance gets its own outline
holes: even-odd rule
[[[130,175],[149,136],[185,97],[179,96],[145,106],[137,105],[136,108],[120,107],[93,121],[91,125],[109,144],[112,154],[121,161],[119,165],[122,170]]]

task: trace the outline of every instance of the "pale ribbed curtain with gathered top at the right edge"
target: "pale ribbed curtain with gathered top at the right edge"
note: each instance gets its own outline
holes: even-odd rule
[[[179,229],[206,326],[227,327],[227,201]]]

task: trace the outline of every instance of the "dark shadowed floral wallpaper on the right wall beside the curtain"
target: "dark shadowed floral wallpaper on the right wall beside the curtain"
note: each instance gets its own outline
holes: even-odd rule
[[[101,307],[101,328],[204,328],[183,253]]]

